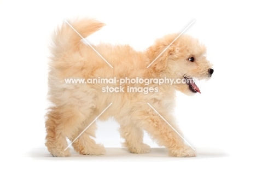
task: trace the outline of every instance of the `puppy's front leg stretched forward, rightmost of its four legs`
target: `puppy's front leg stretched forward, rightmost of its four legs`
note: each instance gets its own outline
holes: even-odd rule
[[[161,110],[159,112],[169,124],[177,130],[174,125],[172,116],[168,114],[167,110],[155,107]],[[188,145],[185,145],[183,139],[157,114],[153,109],[147,109],[144,112],[136,113],[136,122],[142,125],[144,130],[151,134],[151,136],[158,142],[159,145],[164,145],[169,150],[170,156],[176,157],[193,157],[196,156],[195,151]]]

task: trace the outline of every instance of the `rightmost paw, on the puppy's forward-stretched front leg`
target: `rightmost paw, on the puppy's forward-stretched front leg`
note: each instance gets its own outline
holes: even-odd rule
[[[196,153],[195,150],[193,150],[190,146],[186,145],[177,149],[172,149],[169,152],[169,155],[175,157],[195,157]]]

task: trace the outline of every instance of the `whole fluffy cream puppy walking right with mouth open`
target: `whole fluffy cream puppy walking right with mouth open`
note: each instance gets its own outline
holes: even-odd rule
[[[92,19],[70,21],[69,24],[84,38],[104,26]],[[51,46],[48,81],[49,101],[52,105],[45,122],[45,145],[49,152],[53,156],[69,156],[67,137],[73,142],[74,150],[80,154],[104,154],[104,146],[96,144],[91,138],[95,137],[96,131],[96,123],[91,122],[108,107],[98,119],[113,117],[120,124],[120,135],[125,139],[123,145],[131,153],[150,151],[150,147],[143,143],[145,130],[159,145],[168,149],[170,156],[195,156],[195,151],[178,135],[182,133],[171,113],[176,90],[188,95],[200,92],[193,78],[211,77],[213,69],[206,60],[205,46],[188,35],[182,35],[173,42],[178,34],[169,34],[156,40],[145,51],[136,51],[129,45],[90,46],[82,42],[82,38],[70,25],[63,23],[57,29]],[[85,84],[67,83],[65,80],[68,78],[126,78],[127,81],[123,84],[117,81],[115,84]],[[136,78],[151,79],[153,82],[146,85],[129,81]],[[154,80],[164,78],[185,79],[186,83],[154,83]],[[107,86],[117,91],[107,91]],[[133,91],[129,91],[131,87]]]

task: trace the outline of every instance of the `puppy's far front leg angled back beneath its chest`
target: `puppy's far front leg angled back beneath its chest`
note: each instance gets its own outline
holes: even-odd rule
[[[143,143],[144,133],[141,128],[134,124],[120,124],[120,135],[125,139],[123,146],[129,149],[131,153],[149,153],[150,146]]]

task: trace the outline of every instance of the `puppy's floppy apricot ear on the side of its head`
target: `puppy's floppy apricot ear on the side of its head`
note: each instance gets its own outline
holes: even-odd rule
[[[150,67],[153,68],[153,70],[155,72],[162,72],[162,71],[164,71],[164,69],[167,67],[168,58],[170,58],[172,56],[172,54],[175,53],[175,46],[174,45],[171,45],[168,49],[166,49],[166,48],[167,48],[167,46],[158,46],[158,47],[150,47],[148,49],[148,55],[149,55],[149,58],[152,61],[154,61],[155,58],[158,57],[152,63],[152,65],[150,66]]]

